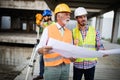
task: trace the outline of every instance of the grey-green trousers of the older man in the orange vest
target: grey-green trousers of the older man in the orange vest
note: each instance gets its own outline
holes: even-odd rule
[[[45,67],[45,80],[69,80],[70,64]]]

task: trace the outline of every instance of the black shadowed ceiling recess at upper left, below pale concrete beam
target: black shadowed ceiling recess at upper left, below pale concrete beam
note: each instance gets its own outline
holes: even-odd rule
[[[13,8],[0,8],[1,16],[11,16],[35,19],[36,13],[42,13],[42,10],[28,10],[28,9],[13,9]]]

